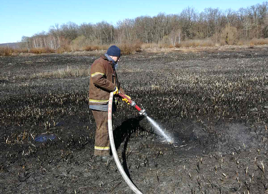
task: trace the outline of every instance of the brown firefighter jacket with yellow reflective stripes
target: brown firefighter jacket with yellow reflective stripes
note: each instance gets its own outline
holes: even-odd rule
[[[124,90],[120,87],[113,62],[108,61],[103,55],[91,65],[89,105],[107,105],[110,92],[113,92],[115,87],[125,94]]]

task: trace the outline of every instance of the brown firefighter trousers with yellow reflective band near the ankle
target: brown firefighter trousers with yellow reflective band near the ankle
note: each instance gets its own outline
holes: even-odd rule
[[[108,132],[108,112],[92,110],[92,113],[97,125],[94,155],[109,156],[110,140]]]

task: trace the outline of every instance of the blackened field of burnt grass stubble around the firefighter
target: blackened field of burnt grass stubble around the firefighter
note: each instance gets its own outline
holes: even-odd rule
[[[98,57],[0,58],[1,193],[133,193],[115,162],[93,156],[89,76],[40,76],[86,71]],[[143,193],[267,192],[267,57],[267,48],[122,57],[126,94],[175,141],[163,142],[133,107],[119,104],[118,156]],[[41,133],[57,139],[35,142]]]

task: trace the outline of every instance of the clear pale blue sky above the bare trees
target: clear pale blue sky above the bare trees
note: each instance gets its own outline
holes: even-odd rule
[[[48,31],[55,23],[68,21],[80,25],[83,22],[97,23],[105,20],[113,25],[125,18],[141,15],[154,16],[159,12],[178,14],[187,6],[198,12],[204,8],[232,8],[238,10],[262,3],[263,0],[0,0],[0,43],[17,42],[21,37]]]

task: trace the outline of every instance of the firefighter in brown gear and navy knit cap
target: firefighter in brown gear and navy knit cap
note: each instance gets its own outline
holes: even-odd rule
[[[116,96],[118,91],[120,90],[120,92],[125,94],[116,74],[117,62],[120,56],[120,48],[113,45],[108,48],[103,56],[93,62],[90,69],[89,108],[92,110],[97,125],[94,155],[97,160],[105,162],[113,160],[113,156],[110,155],[108,132],[109,94],[110,92],[114,94],[113,112],[116,111],[117,100],[119,100],[119,97]],[[128,103],[127,98],[122,100]]]

